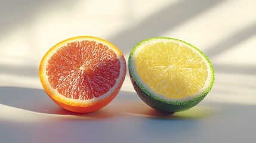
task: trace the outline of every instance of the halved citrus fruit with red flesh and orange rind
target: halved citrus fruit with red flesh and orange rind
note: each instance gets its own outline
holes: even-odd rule
[[[88,113],[109,104],[124,83],[126,63],[112,43],[92,36],[66,39],[42,58],[45,92],[66,110]]]

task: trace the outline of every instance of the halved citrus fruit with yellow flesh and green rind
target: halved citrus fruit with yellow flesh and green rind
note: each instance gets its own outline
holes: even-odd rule
[[[214,68],[206,55],[174,38],[149,38],[135,45],[128,69],[140,98],[169,113],[195,106],[214,83]]]

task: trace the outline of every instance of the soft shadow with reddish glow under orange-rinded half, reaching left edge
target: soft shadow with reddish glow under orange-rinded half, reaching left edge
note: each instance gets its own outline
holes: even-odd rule
[[[103,119],[106,117],[115,116],[115,114],[107,110],[98,110],[93,113],[86,114],[67,111],[55,104],[43,89],[1,86],[0,104],[20,108],[27,111],[33,111],[36,113],[72,115],[74,117],[86,116],[85,118],[88,119]],[[79,117],[77,119],[79,119]]]

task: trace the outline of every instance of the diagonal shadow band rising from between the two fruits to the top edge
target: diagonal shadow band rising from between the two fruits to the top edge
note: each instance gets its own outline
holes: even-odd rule
[[[141,22],[135,26],[121,30],[119,33],[116,33],[116,35],[108,38],[108,40],[115,43],[116,46],[122,47],[122,52],[127,54],[139,41],[159,36],[168,30],[174,29],[221,2],[224,1],[177,1],[174,4],[166,5],[166,7],[161,8],[161,10],[156,13],[150,14],[149,17],[144,18],[144,20],[141,20]]]

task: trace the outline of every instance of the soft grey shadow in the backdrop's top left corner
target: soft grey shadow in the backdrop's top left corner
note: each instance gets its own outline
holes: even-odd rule
[[[77,2],[77,1],[76,1]],[[30,24],[38,12],[41,12],[41,8],[44,11],[51,11],[51,8],[57,6],[60,10],[66,11],[72,5],[76,4],[73,1],[33,1],[33,0],[4,0],[0,4],[0,37],[4,36],[9,30],[14,29],[21,24]],[[55,9],[53,9],[55,10]]]

